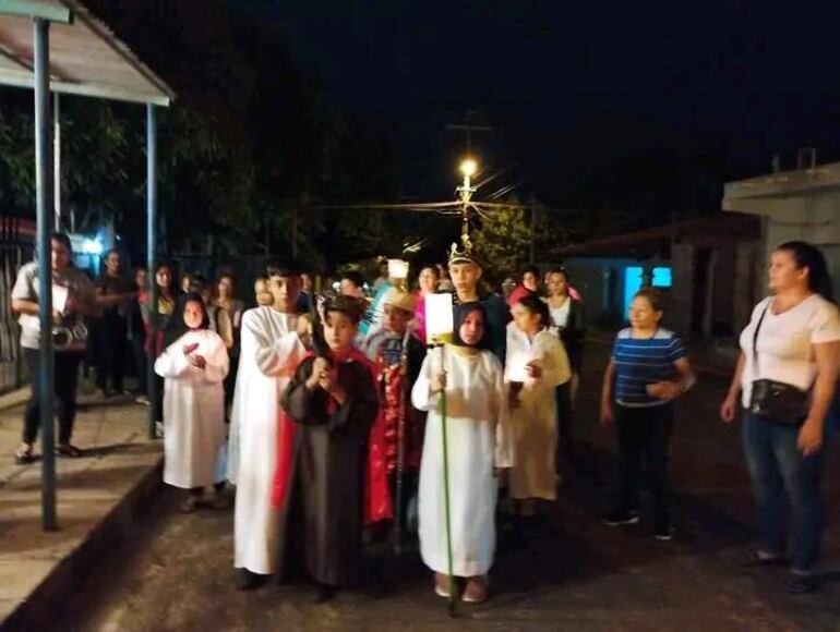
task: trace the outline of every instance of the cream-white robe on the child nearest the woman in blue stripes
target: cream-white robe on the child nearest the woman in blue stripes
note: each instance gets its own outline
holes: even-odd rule
[[[526,365],[542,368],[528,377]],[[505,382],[523,384],[518,406],[511,411],[516,465],[511,470],[511,498],[556,498],[557,400],[555,389],[572,377],[563,343],[549,329],[532,339],[514,323],[507,326]]]

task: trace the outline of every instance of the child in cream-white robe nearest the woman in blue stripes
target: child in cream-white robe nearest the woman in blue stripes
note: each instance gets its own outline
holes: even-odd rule
[[[511,308],[505,381],[511,388],[511,427],[516,464],[508,491],[518,513],[532,516],[537,499],[556,498],[555,389],[572,377],[566,351],[550,329],[549,306],[536,294]]]

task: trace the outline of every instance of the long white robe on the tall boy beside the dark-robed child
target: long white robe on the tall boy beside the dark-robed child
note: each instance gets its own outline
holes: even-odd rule
[[[230,414],[228,478],[237,486],[235,561],[253,573],[274,572],[278,511],[272,507],[280,396],[303,358],[298,317],[272,307],[242,316],[239,375]]]

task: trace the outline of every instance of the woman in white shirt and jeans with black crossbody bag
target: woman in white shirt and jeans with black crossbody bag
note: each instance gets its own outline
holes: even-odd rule
[[[756,305],[741,333],[742,353],[720,414],[731,423],[740,396],[745,409],[742,439],[759,532],[759,547],[746,556],[744,564],[785,562],[787,494],[794,536],[788,591],[800,594],[817,585],[815,569],[824,530],[824,429],[838,375],[840,317],[825,257],[811,244],[780,245],[772,254],[768,285],[772,296]],[[763,405],[756,380],[772,380],[777,387],[795,389],[794,394],[809,391],[801,420],[785,423],[782,415]]]

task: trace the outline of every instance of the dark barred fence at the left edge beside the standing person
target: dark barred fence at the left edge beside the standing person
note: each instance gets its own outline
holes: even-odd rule
[[[26,382],[20,327],[12,314],[12,288],[17,269],[33,258],[34,239],[33,222],[0,217],[0,394]]]

